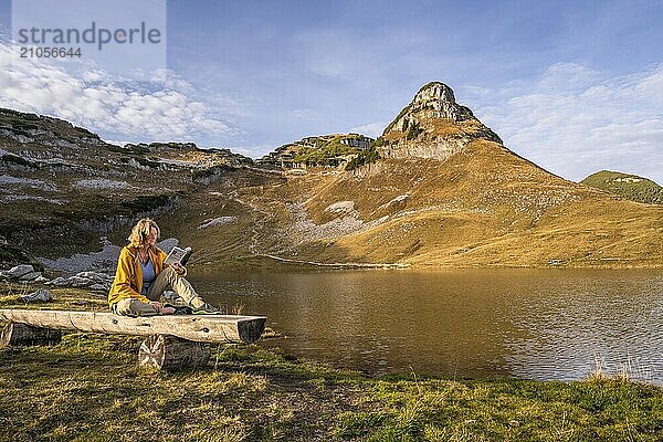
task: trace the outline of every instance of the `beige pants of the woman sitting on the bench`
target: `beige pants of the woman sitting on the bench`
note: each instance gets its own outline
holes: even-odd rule
[[[147,291],[147,298],[159,301],[167,290],[178,294],[185,302],[193,307],[200,307],[203,301],[198,296],[190,282],[177,274],[171,267],[166,267],[159,273]],[[123,316],[155,316],[159,313],[150,305],[136,298],[125,298],[113,304],[113,313]]]

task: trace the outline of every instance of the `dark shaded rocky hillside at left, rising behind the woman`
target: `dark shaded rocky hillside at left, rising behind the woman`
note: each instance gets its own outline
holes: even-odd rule
[[[187,147],[186,149],[181,147]],[[0,263],[94,250],[137,217],[172,213],[251,159],[194,145],[109,145],[67,122],[0,109]],[[199,177],[202,177],[199,179]]]

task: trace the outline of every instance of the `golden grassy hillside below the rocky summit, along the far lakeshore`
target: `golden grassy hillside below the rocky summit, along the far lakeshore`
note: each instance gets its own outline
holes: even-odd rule
[[[234,171],[182,201],[164,231],[192,264],[661,267],[663,208],[556,177],[492,141],[446,161],[381,159],[352,172]],[[223,222],[204,227],[211,220]],[[119,236],[118,236],[119,238]],[[251,264],[249,264],[251,263]]]

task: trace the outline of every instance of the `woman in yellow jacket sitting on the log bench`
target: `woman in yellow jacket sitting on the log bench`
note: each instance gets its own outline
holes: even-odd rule
[[[218,313],[185,280],[187,270],[180,263],[164,266],[167,255],[156,246],[159,235],[159,227],[149,218],[131,230],[129,244],[119,252],[108,293],[110,311],[125,316],[171,315],[175,308],[159,301],[165,291],[172,290],[194,313]]]

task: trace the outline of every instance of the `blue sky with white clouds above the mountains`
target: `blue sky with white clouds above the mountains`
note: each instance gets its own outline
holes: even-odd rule
[[[9,10],[3,0],[0,106],[108,140],[255,158],[311,135],[379,135],[421,85],[442,81],[508,148],[557,175],[663,183],[662,1],[170,0],[167,70],[147,82],[17,61]]]

